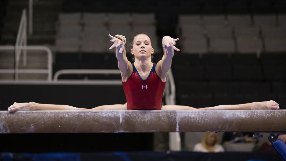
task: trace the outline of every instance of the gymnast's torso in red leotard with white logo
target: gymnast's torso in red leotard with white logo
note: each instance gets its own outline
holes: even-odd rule
[[[134,64],[133,72],[126,82],[122,82],[127,99],[127,110],[161,110],[161,102],[166,82],[163,82],[153,67],[143,80]]]

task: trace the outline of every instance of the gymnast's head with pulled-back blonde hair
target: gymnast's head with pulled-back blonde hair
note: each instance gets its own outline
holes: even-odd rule
[[[133,40],[131,54],[135,56],[135,59],[141,59],[151,57],[154,53],[154,49],[151,45],[150,38],[145,34],[137,35]]]

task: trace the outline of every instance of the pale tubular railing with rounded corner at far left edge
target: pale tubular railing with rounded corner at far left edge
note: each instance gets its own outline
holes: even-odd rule
[[[0,46],[0,50],[15,50],[16,46]],[[52,51],[46,46],[18,46],[18,50],[45,50],[48,54],[48,69],[1,69],[0,73],[15,73],[17,75],[16,81],[18,81],[18,73],[47,73],[48,81],[52,81]],[[19,57],[20,58],[20,57]]]

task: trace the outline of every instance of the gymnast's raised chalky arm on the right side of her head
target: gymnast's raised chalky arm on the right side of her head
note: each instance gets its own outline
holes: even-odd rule
[[[156,72],[163,82],[166,81],[167,73],[171,67],[174,50],[180,51],[174,46],[178,40],[179,38],[173,39],[170,36],[164,36],[162,39],[164,55],[162,60],[157,63]]]

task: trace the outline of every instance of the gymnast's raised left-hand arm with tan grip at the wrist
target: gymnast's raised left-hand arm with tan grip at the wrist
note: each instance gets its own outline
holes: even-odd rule
[[[127,60],[125,43],[126,38],[123,35],[115,35],[114,37],[110,34],[108,35],[111,38],[111,42],[113,42],[112,46],[110,46],[109,50],[115,47],[116,58],[118,60],[118,68],[121,73],[121,79],[123,82],[127,81],[127,78],[131,75],[133,67],[130,61]]]

